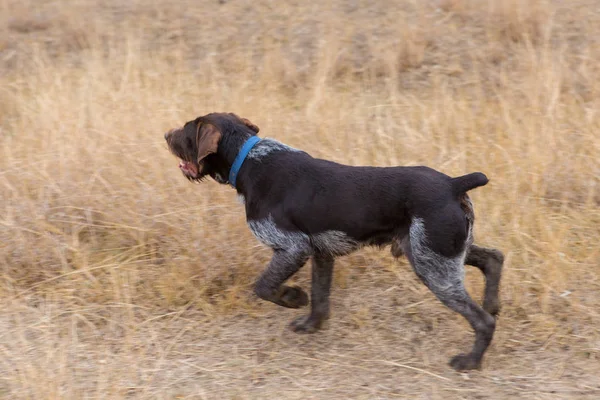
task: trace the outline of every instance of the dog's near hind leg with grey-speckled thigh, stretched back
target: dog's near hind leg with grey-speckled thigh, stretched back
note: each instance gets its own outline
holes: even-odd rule
[[[430,247],[423,221],[413,220],[405,253],[415,273],[448,308],[461,314],[475,331],[470,353],[452,358],[456,370],[477,369],[496,328],[494,317],[471,299],[464,286],[464,254],[444,257]]]

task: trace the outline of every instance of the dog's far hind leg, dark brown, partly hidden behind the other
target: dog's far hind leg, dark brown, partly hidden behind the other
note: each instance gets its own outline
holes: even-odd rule
[[[503,263],[504,256],[496,249],[488,249],[472,244],[467,250],[465,264],[479,268],[485,276],[483,309],[492,315],[497,315],[500,311],[498,292]]]

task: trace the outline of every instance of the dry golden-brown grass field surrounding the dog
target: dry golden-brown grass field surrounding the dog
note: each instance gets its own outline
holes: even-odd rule
[[[326,329],[289,332],[234,191],[164,143],[212,111],[487,174],[483,368],[447,365],[471,329],[389,251],[339,259]],[[598,399],[599,132],[600,1],[0,0],[0,398]]]

